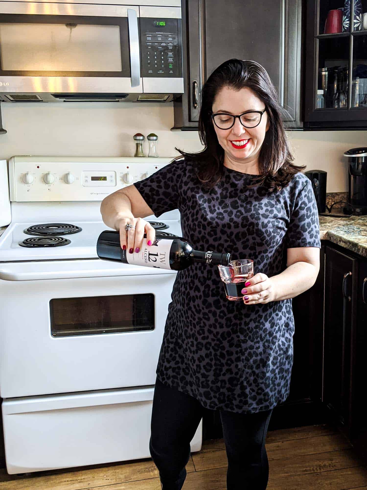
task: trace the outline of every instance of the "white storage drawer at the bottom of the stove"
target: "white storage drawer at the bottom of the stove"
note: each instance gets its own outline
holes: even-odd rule
[[[154,386],[2,402],[8,473],[150,458]],[[191,451],[202,445],[202,421]]]

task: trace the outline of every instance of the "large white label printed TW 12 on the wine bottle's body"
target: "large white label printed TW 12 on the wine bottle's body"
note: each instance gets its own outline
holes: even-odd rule
[[[121,249],[121,262],[134,266],[156,267],[158,269],[169,269],[169,252],[172,240],[166,238],[156,238],[152,245],[148,246],[146,238],[138,253],[129,253],[128,250]]]

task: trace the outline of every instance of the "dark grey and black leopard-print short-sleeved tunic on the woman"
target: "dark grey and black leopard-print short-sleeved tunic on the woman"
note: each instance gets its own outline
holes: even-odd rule
[[[157,217],[180,210],[195,249],[251,258],[254,273],[271,277],[285,270],[287,248],[321,246],[316,201],[300,172],[275,193],[249,189],[251,181],[225,168],[224,179],[205,190],[193,164],[179,160],[135,186]],[[291,299],[228,301],[217,267],[194,264],[175,280],[157,377],[208,409],[270,410],[289,394],[293,334]]]

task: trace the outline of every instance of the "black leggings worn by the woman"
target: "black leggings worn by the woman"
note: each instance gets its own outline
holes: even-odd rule
[[[227,490],[265,490],[269,464],[265,438],[272,410],[236,414],[220,410],[226,444]],[[190,395],[156,380],[149,448],[160,472],[162,490],[181,490],[190,458],[190,441],[203,407]]]

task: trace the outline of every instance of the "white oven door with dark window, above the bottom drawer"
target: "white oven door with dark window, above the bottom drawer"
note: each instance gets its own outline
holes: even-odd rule
[[[175,278],[101,260],[0,264],[0,396],[154,385]]]

